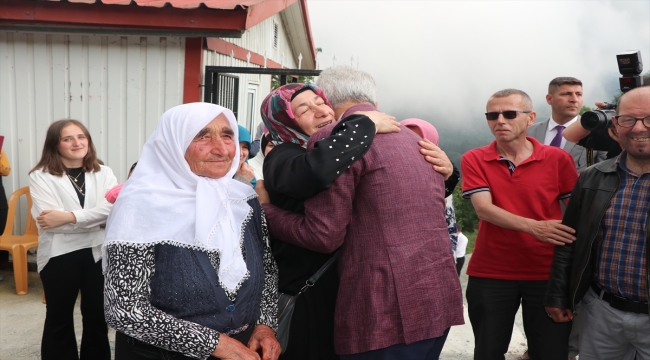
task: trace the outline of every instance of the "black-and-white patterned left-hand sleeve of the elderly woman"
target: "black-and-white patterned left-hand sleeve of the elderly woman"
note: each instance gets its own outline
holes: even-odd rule
[[[106,245],[104,286],[106,322],[117,331],[163,349],[207,359],[219,344],[219,332],[175,318],[151,305],[155,245]]]

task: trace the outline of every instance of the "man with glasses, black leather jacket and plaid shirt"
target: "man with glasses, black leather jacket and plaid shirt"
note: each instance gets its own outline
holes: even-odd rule
[[[648,360],[650,87],[624,94],[612,122],[623,152],[580,175],[563,220],[578,239],[557,247],[544,305],[558,323],[582,318],[580,360]]]

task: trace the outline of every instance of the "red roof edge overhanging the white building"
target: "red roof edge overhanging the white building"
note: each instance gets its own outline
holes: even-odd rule
[[[307,0],[0,0],[0,3],[3,27],[67,33],[239,38],[243,31],[281,13],[282,21],[289,28],[293,55],[309,54],[302,65],[315,66]],[[244,10],[234,10],[238,6]]]

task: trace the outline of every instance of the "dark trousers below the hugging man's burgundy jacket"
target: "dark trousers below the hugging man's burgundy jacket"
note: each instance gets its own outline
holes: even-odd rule
[[[442,336],[415,342],[397,344],[387,348],[366,351],[359,354],[341,355],[341,360],[438,360],[442,347],[449,335],[449,329]]]

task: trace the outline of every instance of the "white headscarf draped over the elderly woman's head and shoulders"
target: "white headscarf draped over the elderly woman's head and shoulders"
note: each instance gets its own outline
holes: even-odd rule
[[[220,114],[228,118],[237,139],[237,120],[221,106],[184,104],[162,115],[108,216],[104,246],[169,243],[217,250],[221,286],[233,293],[248,277],[240,246],[242,225],[252,212],[246,202],[257,195],[232,179],[239,166],[239,146],[230,171],[219,179],[194,174],[185,160],[196,134]]]

